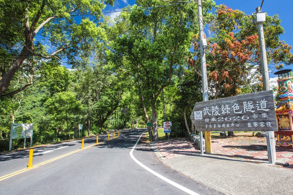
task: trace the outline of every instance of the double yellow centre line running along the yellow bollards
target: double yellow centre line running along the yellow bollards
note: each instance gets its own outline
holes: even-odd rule
[[[114,138],[111,138],[111,139],[114,139]],[[111,139],[109,139],[109,140],[111,140]],[[109,141],[109,140],[105,140],[105,141]],[[101,141],[101,142],[99,142],[98,144],[101,144],[101,143],[103,143],[103,142],[105,142],[105,141]],[[98,145],[98,144],[92,144],[92,145],[90,145],[90,146],[86,146],[84,149],[87,149],[87,148],[89,148],[89,147],[92,147],[92,146],[95,146],[95,145]],[[55,160],[57,160],[57,159],[59,159],[59,158],[63,158],[63,157],[65,157],[65,156],[68,156],[68,155],[70,155],[70,154],[76,153],[76,152],[81,151],[81,150],[84,150],[84,149],[78,149],[78,150],[75,150],[75,151],[72,151],[72,152],[69,152],[69,153],[63,154],[63,155],[61,155],[61,156],[57,156],[57,157],[55,157],[55,158],[49,159],[49,160],[47,160],[47,161],[44,161],[44,162],[42,162],[42,163],[38,163],[38,164],[36,164],[36,165],[33,165],[33,167],[36,168],[36,167],[39,167],[39,166],[41,166],[41,165],[45,165],[45,164],[50,163],[50,162],[52,162],[52,161],[55,161]],[[34,169],[34,168],[32,168],[32,169]],[[0,177],[0,181],[5,180],[5,179],[7,179],[7,178],[9,178],[9,177],[12,177],[12,176],[14,176],[14,175],[18,175],[18,174],[23,173],[23,172],[28,171],[28,170],[31,170],[31,169],[26,169],[26,168],[24,168],[24,169],[18,170],[18,171],[16,171],[16,172],[9,173],[9,174],[7,174],[7,175],[4,175],[4,176]]]

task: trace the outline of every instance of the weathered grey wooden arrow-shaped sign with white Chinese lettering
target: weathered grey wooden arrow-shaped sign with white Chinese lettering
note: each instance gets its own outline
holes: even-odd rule
[[[197,131],[277,131],[272,90],[195,103]]]

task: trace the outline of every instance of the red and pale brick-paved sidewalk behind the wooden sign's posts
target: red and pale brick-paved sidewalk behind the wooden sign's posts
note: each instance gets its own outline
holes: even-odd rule
[[[198,146],[188,139],[170,139],[155,142],[159,152],[164,158],[174,158],[182,155],[200,154]],[[212,138],[212,153],[254,163],[268,163],[266,142],[259,144],[227,141],[226,139]],[[293,149],[276,146],[277,161],[289,163],[281,166],[293,170]],[[279,166],[279,165],[274,165]]]

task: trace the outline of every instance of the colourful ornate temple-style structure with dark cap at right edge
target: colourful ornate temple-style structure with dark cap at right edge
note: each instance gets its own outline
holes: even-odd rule
[[[275,75],[278,75],[279,98],[275,107],[277,118],[277,146],[292,146],[293,147],[293,84],[292,77],[289,72],[292,70],[280,70]]]

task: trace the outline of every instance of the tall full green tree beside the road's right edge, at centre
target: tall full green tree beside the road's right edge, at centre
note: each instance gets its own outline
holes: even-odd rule
[[[139,7],[169,4],[145,0],[136,3]],[[124,23],[127,30],[113,44],[115,69],[132,76],[142,107],[150,105],[155,141],[159,140],[156,101],[163,88],[173,83],[174,71],[182,65],[184,54],[189,53],[191,35],[197,31],[195,15],[190,8],[197,9],[195,4],[177,4],[132,10],[123,12],[117,20],[117,25]],[[146,109],[143,110],[148,119]]]

